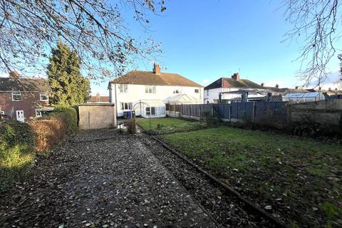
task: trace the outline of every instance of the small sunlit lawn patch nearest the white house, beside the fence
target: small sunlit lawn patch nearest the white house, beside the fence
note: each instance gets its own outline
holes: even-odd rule
[[[152,118],[151,130],[148,128],[148,119],[137,120],[137,124],[140,125],[145,131],[150,131],[155,135],[162,135],[167,133],[188,132],[191,130],[199,130],[207,128],[207,125],[198,121],[187,121],[177,118]]]

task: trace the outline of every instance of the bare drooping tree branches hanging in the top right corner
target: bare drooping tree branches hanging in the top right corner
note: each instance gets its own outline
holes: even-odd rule
[[[336,58],[336,42],[341,38],[341,0],[284,0],[286,21],[293,29],[286,40],[304,39],[296,59],[301,61],[299,78],[304,86],[321,86],[327,64]]]

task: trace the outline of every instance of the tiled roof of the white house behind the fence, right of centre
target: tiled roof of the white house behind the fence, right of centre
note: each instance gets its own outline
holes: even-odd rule
[[[209,86],[206,86],[204,90],[210,90],[213,88],[259,88],[259,89],[263,89],[264,87],[252,81],[249,81],[248,79],[239,79],[239,81],[237,81],[233,78],[219,78],[217,79],[217,81],[214,81]]]

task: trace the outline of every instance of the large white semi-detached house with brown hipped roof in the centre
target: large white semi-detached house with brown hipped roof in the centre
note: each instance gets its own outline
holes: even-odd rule
[[[153,71],[130,71],[115,78],[108,89],[119,117],[130,110],[142,117],[164,117],[165,103],[175,100],[203,103],[203,86],[177,73],[161,72],[156,64]]]

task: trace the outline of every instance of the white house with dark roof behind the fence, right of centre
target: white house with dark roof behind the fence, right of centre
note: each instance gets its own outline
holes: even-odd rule
[[[222,103],[228,100],[239,100],[242,94],[238,91],[249,91],[249,96],[252,95],[254,98],[264,97],[264,93],[267,93],[267,89],[263,86],[248,79],[242,79],[239,73],[234,73],[232,78],[219,78],[209,86],[206,86],[204,88],[204,102],[219,103],[220,95]]]

